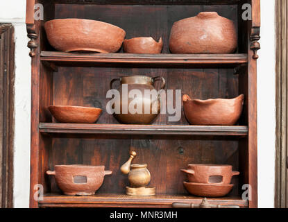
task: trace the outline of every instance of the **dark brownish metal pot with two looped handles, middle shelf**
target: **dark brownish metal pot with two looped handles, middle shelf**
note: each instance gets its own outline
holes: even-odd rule
[[[160,76],[148,77],[148,76],[125,76],[121,78],[113,79],[110,83],[110,89],[112,89],[113,83],[119,81],[121,85],[118,87],[120,93],[119,98],[119,112],[114,114],[114,117],[120,123],[126,124],[149,124],[151,123],[160,113],[160,96],[153,99],[153,96],[145,96],[145,90],[154,90],[153,84],[155,81],[162,80],[161,89],[165,87],[165,80]],[[142,110],[133,110],[135,113],[131,112],[129,105],[132,101],[135,101],[134,98],[128,98],[123,100],[123,97],[128,97],[128,94],[124,94],[122,91],[122,85],[127,86],[127,92],[130,93],[131,90],[137,89],[138,92],[141,92],[142,97],[138,96],[137,101],[141,103]],[[152,92],[152,91],[151,91]],[[152,97],[152,98],[151,98]],[[133,103],[132,103],[133,104]],[[137,104],[137,103],[135,103]],[[130,105],[130,107],[138,107],[138,105]],[[140,107],[140,106],[139,106]],[[145,112],[146,107],[146,112]],[[112,107],[113,108],[113,107]],[[125,110],[123,110],[125,108]],[[140,107],[141,108],[141,107]]]

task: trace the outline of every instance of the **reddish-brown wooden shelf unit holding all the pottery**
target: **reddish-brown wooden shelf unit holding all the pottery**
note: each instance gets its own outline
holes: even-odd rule
[[[44,6],[44,21],[34,20],[34,4]],[[242,19],[242,5],[252,6],[252,20]],[[257,207],[257,49],[260,39],[260,0],[27,0],[28,47],[32,57],[31,207],[171,207],[174,202],[201,203],[183,187],[180,169],[191,163],[231,164],[240,175],[224,198],[212,204]],[[217,11],[237,26],[238,49],[230,55],[177,55],[169,52],[173,22],[201,11]],[[160,55],[62,53],[46,40],[44,23],[76,17],[115,24],[126,38],[162,37]],[[103,112],[96,124],[56,123],[49,105],[101,106],[112,78],[132,74],[162,76],[167,89],[182,89],[198,99],[245,95],[239,126],[189,126],[184,112],[170,123],[161,114],[149,126],[121,125]],[[235,75],[239,74],[239,75]],[[128,185],[119,167],[129,151],[139,155],[151,172],[157,195],[124,195]],[[157,160],[157,161],[155,161]],[[63,196],[55,178],[45,175],[56,164],[105,165],[113,171],[95,196]],[[35,200],[35,185],[44,186],[44,200]],[[242,200],[242,186],[251,186],[251,199]]]

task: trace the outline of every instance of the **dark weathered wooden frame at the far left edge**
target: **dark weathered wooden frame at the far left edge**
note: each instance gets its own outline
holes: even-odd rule
[[[0,24],[0,206],[13,207],[15,41],[11,24]]]

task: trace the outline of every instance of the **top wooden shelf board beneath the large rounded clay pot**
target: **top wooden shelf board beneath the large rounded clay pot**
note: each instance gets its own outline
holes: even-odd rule
[[[248,62],[247,54],[130,54],[130,53],[62,53],[42,51],[40,60],[62,67],[237,67]]]

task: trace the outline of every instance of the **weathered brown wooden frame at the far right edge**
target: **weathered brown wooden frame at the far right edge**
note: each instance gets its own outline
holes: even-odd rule
[[[276,207],[288,207],[288,146],[287,146],[287,17],[286,0],[276,1]]]

